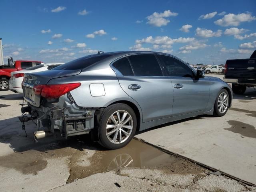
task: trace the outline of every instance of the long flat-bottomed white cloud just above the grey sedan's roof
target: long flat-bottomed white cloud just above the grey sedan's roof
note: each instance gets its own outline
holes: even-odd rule
[[[176,38],[172,39],[168,36],[156,36],[153,38],[152,36],[148,36],[147,38],[143,38],[141,40],[135,40],[136,44],[142,44],[142,43],[150,43],[150,44],[163,44],[163,45],[172,45],[174,43],[187,43],[187,42],[192,42],[194,41],[195,38]]]

